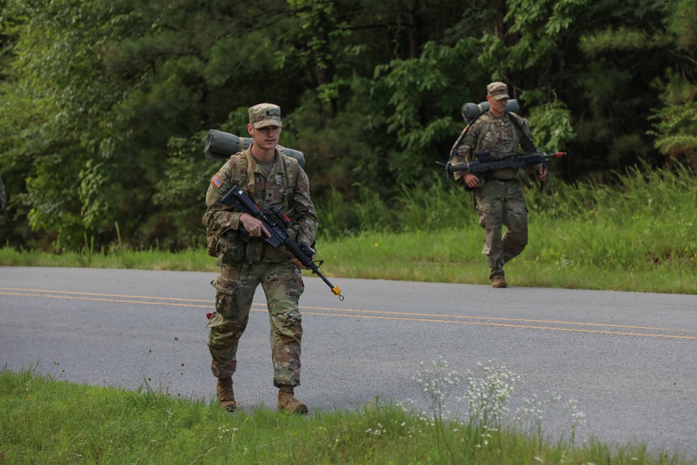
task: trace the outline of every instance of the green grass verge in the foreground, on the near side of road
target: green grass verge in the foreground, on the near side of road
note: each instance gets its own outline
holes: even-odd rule
[[[436,397],[434,399],[437,400]],[[438,404],[438,402],[436,402]],[[687,464],[645,447],[487,427],[380,399],[354,411],[226,413],[173,398],[0,370],[0,464]]]

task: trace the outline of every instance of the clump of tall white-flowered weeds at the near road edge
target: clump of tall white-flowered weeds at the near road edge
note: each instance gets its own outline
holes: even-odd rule
[[[424,367],[424,363],[421,365]],[[445,448],[448,462],[476,463],[477,450],[488,450],[489,452],[482,452],[487,455],[491,455],[493,450],[493,455],[501,452],[510,455],[513,452],[513,456],[525,457],[528,453],[527,446],[516,449],[516,443],[537,443],[542,450],[543,444],[549,443],[554,437],[558,438],[558,449],[570,450],[574,447],[576,430],[585,424],[585,415],[579,411],[575,399],[562,402],[560,395],[548,392],[548,396],[542,400],[537,396],[523,399],[523,406],[512,414],[509,405],[516,386],[521,383],[521,377],[507,367],[492,366],[491,360],[487,364],[477,365],[479,372],[467,371],[466,388],[461,396],[455,397],[458,403],[466,406],[464,418],[447,416],[450,413],[448,401],[460,388],[458,374],[450,369],[447,360],[442,356],[438,357],[414,377],[422,397],[431,409],[430,418],[424,412],[422,419],[431,422],[434,442],[439,448],[441,445]],[[557,420],[556,428],[569,428],[569,436],[565,439],[565,432],[559,429],[547,432],[542,425],[545,418]],[[559,421],[560,418],[562,421]],[[466,436],[466,440],[459,444],[452,442],[452,434],[446,431],[446,428],[452,428],[452,425],[458,423]]]

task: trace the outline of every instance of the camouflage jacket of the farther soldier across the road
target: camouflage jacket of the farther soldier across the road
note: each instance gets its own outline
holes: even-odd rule
[[[508,114],[496,117],[491,112],[486,112],[465,128],[466,134],[457,154],[451,161],[451,165],[466,165],[473,160],[473,153],[480,150],[491,151],[491,156],[494,158],[503,158],[504,155],[509,153],[516,153],[519,146],[522,146],[528,152],[535,150],[533,134],[530,132],[528,120],[515,113],[509,114],[518,121],[527,139],[523,137],[521,130],[511,121]],[[535,166],[535,169],[540,167],[542,165]],[[463,177],[466,172],[455,171],[453,173],[455,180],[457,181]],[[513,168],[496,169],[491,173],[491,177],[496,179],[514,179],[520,176],[519,171]]]

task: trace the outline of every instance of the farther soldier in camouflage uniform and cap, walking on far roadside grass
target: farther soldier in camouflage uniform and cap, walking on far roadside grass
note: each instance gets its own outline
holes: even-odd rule
[[[508,87],[503,82],[487,86],[489,111],[470,123],[462,144],[450,164],[465,165],[473,160],[473,152],[489,150],[495,158],[515,153],[518,146],[534,149],[528,121],[506,112]],[[515,121],[513,121],[515,119]],[[540,181],[547,178],[542,164],[535,165]],[[523,197],[521,177],[517,169],[496,169],[487,178],[478,178],[468,171],[455,171],[456,181],[462,179],[474,189],[480,226],[484,228],[484,250],[491,269],[489,280],[493,287],[506,287],[503,266],[523,252],[528,244],[528,208]],[[503,225],[506,233],[501,236]]]

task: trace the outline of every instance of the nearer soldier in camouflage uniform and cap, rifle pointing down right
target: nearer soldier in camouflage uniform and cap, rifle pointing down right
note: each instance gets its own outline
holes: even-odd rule
[[[216,290],[215,313],[207,325],[211,369],[218,380],[220,406],[233,411],[237,406],[232,388],[237,346],[249,321],[254,291],[261,284],[268,303],[278,409],[307,413],[307,406],[293,391],[300,386],[302,324],[298,300],[305,289],[300,264],[285,247],[275,248],[263,240],[268,231],[259,220],[217,203],[230,185],[237,184],[262,210],[276,206],[293,218],[296,224],[288,233],[296,242],[314,244],[317,215],[309,197],[309,181],[298,162],[276,147],[282,127],[280,108],[261,103],[251,107],[249,114],[247,130],[252,144],[232,155],[211,178],[202,219],[208,231],[220,235],[213,241],[220,266],[220,275],[211,282]],[[209,241],[209,249],[210,245]]]

